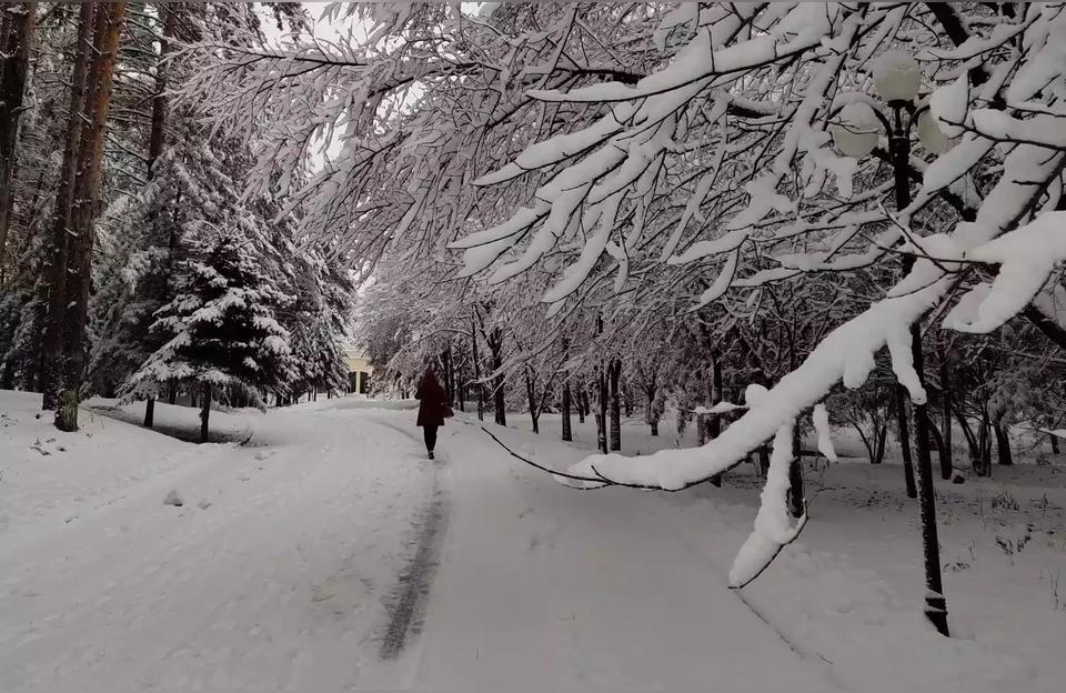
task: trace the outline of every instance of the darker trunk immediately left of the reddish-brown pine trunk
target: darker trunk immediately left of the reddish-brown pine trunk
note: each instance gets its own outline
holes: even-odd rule
[[[43,396],[41,408],[54,410],[59,405],[62,388],[63,315],[67,308],[67,263],[70,235],[71,197],[74,192],[74,174],[78,171],[78,154],[81,142],[82,109],[86,102],[86,76],[89,72],[90,42],[95,4],[83,2],[78,23],[77,52],[70,78],[68,103],[67,143],[63,147],[63,163],[59,175],[59,189],[52,218],[52,247],[46,271],[48,284],[48,318],[41,344],[40,386]]]

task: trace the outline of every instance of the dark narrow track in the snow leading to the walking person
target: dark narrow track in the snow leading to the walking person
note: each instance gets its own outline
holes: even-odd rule
[[[375,416],[368,420],[393,431],[399,431],[420,445],[422,441],[410,431]],[[395,660],[403,652],[411,634],[421,632],[433,578],[440,565],[441,546],[447,525],[447,499],[441,484],[441,472],[446,456],[436,455],[433,462],[433,485],[430,500],[419,515],[419,535],[415,550],[396,578],[396,587],[385,605],[388,623],[382,636],[379,657]]]

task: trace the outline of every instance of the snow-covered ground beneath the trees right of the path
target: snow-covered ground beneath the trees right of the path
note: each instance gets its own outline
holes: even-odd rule
[[[557,415],[540,423],[544,435],[557,439]],[[513,425],[530,426],[521,416]],[[673,418],[661,423],[661,436],[647,431],[642,422],[624,422],[623,451],[695,444],[692,426],[678,439]],[[592,422],[574,433],[576,445],[595,448]],[[838,451],[864,454],[849,432],[839,438]],[[519,448],[534,453],[540,443]],[[921,617],[917,501],[906,498],[894,452],[881,465],[856,458],[837,464],[807,460],[811,521],[800,541],[744,591],[747,599],[848,681],[866,676],[884,681],[886,690],[1059,691],[1066,680],[1066,583],[1059,582],[1066,575],[1066,456],[1047,466],[994,465],[992,479],[971,476],[962,485],[936,479],[955,635],[945,646]],[[754,470],[742,465],[726,474],[722,489],[703,484],[652,495],[664,495],[655,512],[670,516],[678,538],[724,574],[751,531],[761,488]],[[858,690],[879,690],[868,685]]]

